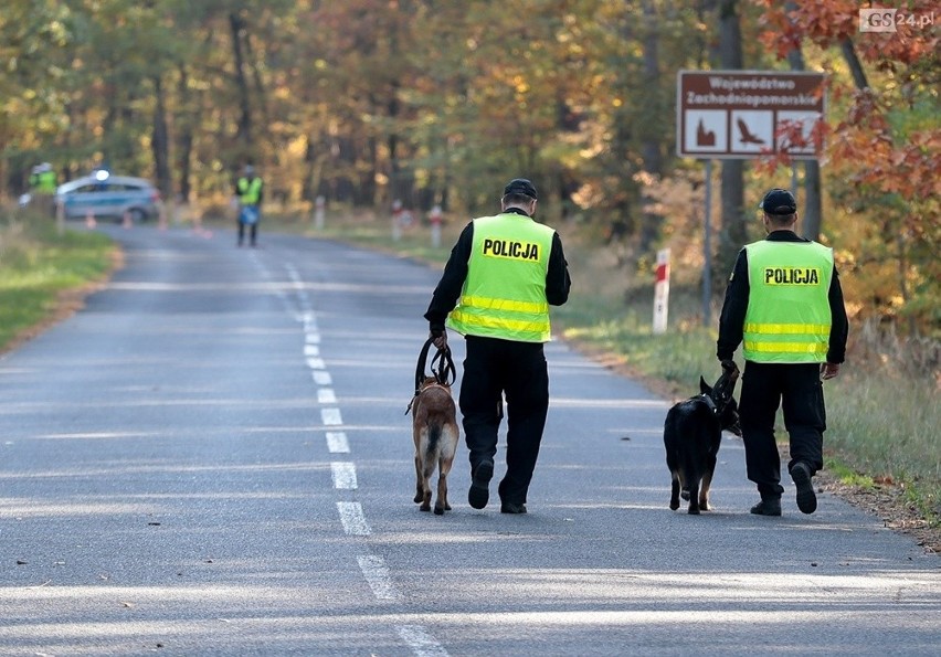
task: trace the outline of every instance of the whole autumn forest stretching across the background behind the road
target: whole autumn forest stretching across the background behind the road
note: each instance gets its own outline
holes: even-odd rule
[[[761,194],[793,177],[854,319],[937,345],[939,28],[927,0],[887,4],[932,22],[860,32],[869,3],[850,0],[6,0],[0,195],[49,161],[209,206],[252,162],[297,212],[400,200],[463,223],[525,176],[625,276],[646,285],[670,246],[695,283],[704,168],[675,155],[677,72],[817,71],[820,162],[715,167],[717,292]]]

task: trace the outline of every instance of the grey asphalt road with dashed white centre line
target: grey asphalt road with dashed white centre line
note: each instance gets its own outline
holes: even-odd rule
[[[454,509],[420,512],[431,268],[102,230],[126,266],[0,358],[0,655],[941,649],[937,555],[828,495],[803,516],[786,477],[749,515],[733,437],[716,510],[670,511],[667,402],[563,342],[529,513],[467,506],[463,444]]]

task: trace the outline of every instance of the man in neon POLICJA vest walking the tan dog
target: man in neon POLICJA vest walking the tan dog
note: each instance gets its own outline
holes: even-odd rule
[[[537,193],[526,179],[504,188],[501,212],[473,220],[461,233],[427,312],[435,345],[445,324],[466,341],[459,406],[470,459],[467,500],[483,509],[494,476],[497,432],[507,403],[507,469],[500,511],[526,513],[549,409],[542,345],[550,339],[549,306],[569,298],[571,279],[562,241],[536,223]]]

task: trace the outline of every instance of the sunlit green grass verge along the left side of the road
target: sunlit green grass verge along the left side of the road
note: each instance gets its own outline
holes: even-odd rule
[[[61,308],[61,296],[101,280],[115,247],[38,213],[0,211],[0,352]]]

